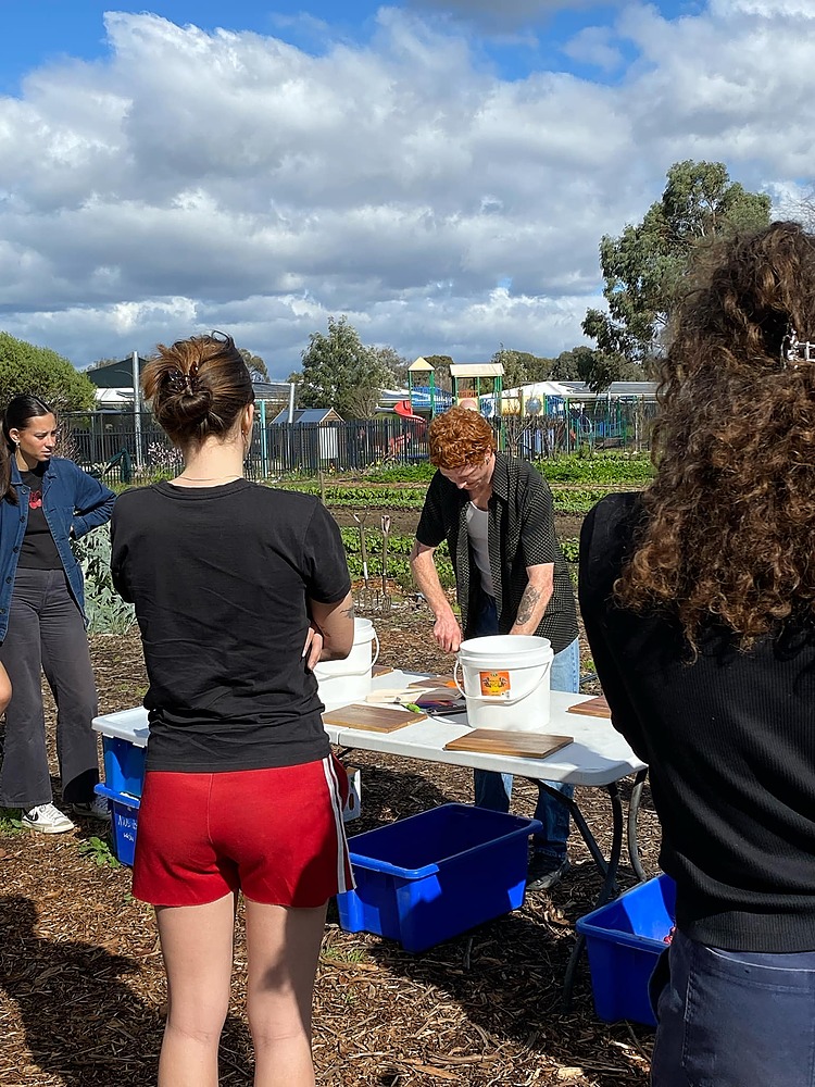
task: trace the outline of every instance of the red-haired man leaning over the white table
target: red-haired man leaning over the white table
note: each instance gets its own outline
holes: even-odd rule
[[[456,652],[467,638],[537,635],[554,651],[552,690],[580,689],[580,647],[572,580],[554,532],[552,493],[526,461],[498,452],[492,427],[467,408],[437,415],[428,430],[437,472],[422,510],[411,569],[436,622],[434,637]],[[447,540],[455,571],[461,625],[441,587],[434,552]],[[572,797],[574,787],[547,782]],[[512,775],[475,771],[480,808],[507,812]],[[568,809],[538,790],[528,890],[549,890],[568,871]]]

